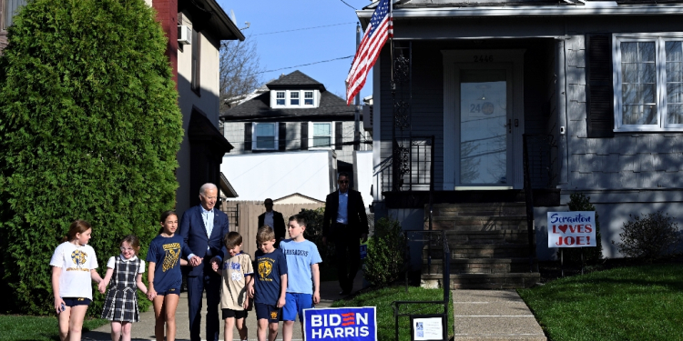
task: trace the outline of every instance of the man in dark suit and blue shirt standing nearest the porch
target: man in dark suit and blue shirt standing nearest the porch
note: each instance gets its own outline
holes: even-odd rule
[[[339,190],[325,199],[322,221],[322,243],[334,243],[340,295],[351,294],[353,279],[361,267],[361,239],[368,238],[368,216],[361,193],[349,188],[349,175],[342,172],[337,178]]]

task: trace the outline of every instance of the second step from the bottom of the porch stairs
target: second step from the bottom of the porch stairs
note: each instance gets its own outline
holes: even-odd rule
[[[533,264],[535,268],[535,260]],[[528,257],[452,259],[451,274],[507,274],[529,271]],[[443,259],[423,261],[423,274],[443,274]]]

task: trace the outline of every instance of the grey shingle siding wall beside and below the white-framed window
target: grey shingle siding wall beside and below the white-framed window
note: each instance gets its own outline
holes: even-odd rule
[[[569,179],[565,189],[657,189],[683,187],[683,134],[617,133],[586,137],[584,35],[566,42]]]

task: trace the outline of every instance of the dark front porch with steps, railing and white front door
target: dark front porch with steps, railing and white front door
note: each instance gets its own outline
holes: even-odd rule
[[[555,45],[401,41],[393,63],[382,52],[373,204],[404,230],[446,230],[450,255],[410,246],[423,286],[441,286],[444,261],[454,289],[539,281],[533,209],[560,203]]]

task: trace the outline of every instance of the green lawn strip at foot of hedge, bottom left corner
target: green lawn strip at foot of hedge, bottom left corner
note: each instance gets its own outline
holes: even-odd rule
[[[104,319],[87,319],[83,332],[109,323]],[[59,330],[54,316],[0,315],[0,340],[3,341],[59,341]]]

